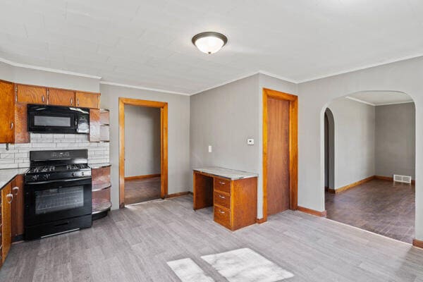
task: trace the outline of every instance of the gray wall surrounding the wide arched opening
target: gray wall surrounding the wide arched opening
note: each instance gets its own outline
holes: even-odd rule
[[[416,106],[416,144],[423,142],[423,57],[300,83],[298,204],[324,210],[324,110],[333,99],[360,91],[399,91]],[[423,150],[416,146],[416,238],[423,240]]]

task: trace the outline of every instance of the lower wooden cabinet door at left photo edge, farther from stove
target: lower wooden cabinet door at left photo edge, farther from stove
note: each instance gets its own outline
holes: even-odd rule
[[[1,241],[3,249],[3,262],[6,259],[8,251],[11,248],[12,236],[11,236],[11,183],[8,183],[1,190]]]

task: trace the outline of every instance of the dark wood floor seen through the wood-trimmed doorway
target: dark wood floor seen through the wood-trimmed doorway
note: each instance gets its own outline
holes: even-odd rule
[[[125,180],[125,204],[160,199],[160,176]]]

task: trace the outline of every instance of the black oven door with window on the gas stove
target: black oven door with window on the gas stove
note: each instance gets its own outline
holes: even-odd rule
[[[25,183],[25,226],[92,214],[91,177]]]

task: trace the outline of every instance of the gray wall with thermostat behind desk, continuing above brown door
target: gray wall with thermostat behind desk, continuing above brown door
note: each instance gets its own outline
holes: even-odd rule
[[[263,87],[297,92],[293,83],[257,74],[190,97],[191,167],[223,166],[258,173],[258,218],[263,204]],[[247,138],[254,138],[255,145],[248,146]]]

